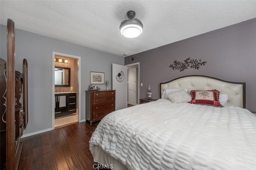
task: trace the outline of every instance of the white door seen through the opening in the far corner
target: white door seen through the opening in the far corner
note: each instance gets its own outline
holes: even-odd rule
[[[136,105],[136,68],[128,69],[128,103]]]

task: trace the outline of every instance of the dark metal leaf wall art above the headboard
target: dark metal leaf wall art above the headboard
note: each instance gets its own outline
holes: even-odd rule
[[[206,63],[206,61],[201,61],[197,60],[197,59],[190,59],[187,58],[184,60],[184,62],[180,62],[180,61],[174,61],[173,64],[171,64],[169,67],[171,67],[172,69],[177,69],[180,71],[183,71],[184,69],[187,69],[188,67],[193,68],[193,69],[199,69],[200,66],[204,65]]]

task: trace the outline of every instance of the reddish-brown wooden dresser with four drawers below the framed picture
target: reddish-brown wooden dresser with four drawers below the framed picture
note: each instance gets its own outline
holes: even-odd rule
[[[99,121],[108,113],[115,111],[116,91],[100,90],[86,92],[86,120],[92,122]]]

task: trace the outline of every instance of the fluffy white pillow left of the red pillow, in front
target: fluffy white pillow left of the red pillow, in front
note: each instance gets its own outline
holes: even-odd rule
[[[166,96],[172,103],[188,103],[192,99],[188,92],[183,89],[168,93]]]

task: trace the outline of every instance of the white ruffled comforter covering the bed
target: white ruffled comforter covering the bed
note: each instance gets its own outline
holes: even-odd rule
[[[255,170],[256,117],[166,99],[115,111],[90,139],[130,170]]]

